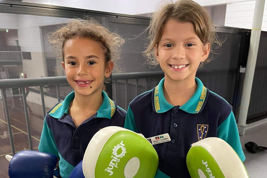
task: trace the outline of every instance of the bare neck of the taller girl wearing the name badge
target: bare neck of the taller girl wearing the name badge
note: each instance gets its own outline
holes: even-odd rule
[[[197,83],[194,80],[170,81],[164,80],[163,93],[167,102],[173,106],[182,106],[195,93]]]

